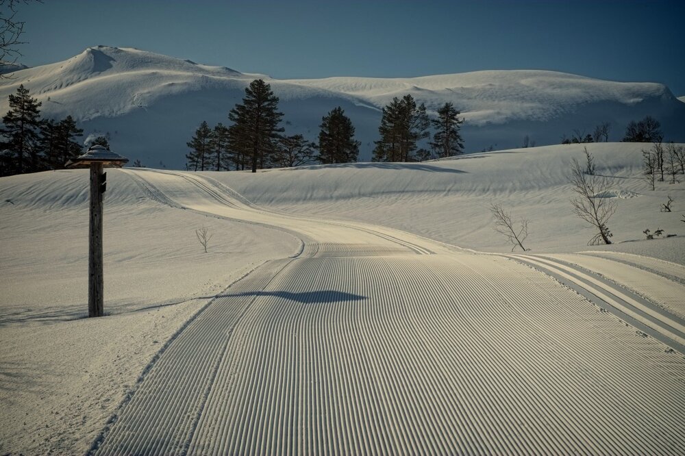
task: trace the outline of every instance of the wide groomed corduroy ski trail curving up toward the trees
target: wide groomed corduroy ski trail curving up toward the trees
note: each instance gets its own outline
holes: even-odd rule
[[[306,245],[216,296],[92,453],[685,454],[682,356],[526,264],[578,268],[263,212],[200,177],[154,177],[141,178],[161,201]],[[208,201],[178,201],[178,185]]]

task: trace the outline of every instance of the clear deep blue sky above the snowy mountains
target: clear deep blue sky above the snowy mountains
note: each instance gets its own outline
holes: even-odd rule
[[[544,69],[685,95],[685,1],[43,0],[20,61],[110,45],[278,79]]]

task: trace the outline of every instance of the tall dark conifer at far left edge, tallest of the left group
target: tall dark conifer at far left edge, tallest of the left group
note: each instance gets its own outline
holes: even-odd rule
[[[3,149],[8,151],[12,174],[30,173],[40,168],[38,129],[42,103],[29,95],[23,84],[10,94],[10,110],[3,117],[0,134],[5,137]]]

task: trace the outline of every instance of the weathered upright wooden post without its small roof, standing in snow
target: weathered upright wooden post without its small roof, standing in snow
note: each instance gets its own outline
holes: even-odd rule
[[[103,165],[90,164],[90,231],[88,233],[88,316],[103,314],[102,192]]]

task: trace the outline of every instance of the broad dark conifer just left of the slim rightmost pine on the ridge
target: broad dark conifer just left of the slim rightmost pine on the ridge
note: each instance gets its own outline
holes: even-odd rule
[[[410,162],[416,160],[419,140],[428,138],[430,121],[423,103],[416,105],[414,97],[397,97],[383,108],[378,132],[381,139],[375,141],[373,160],[376,162]],[[419,151],[423,156],[423,151]]]

